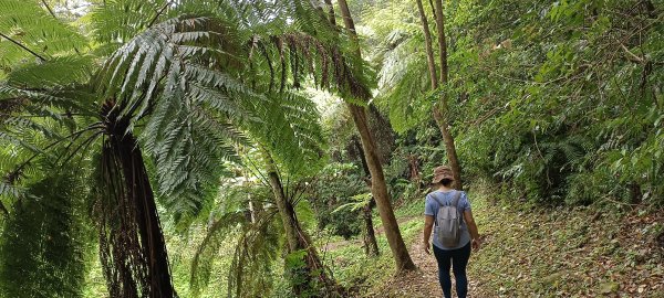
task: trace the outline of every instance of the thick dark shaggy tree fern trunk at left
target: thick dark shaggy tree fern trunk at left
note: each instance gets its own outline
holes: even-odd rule
[[[107,139],[97,194],[100,249],[112,297],[175,297],[155,196],[136,138],[114,103],[102,108]]]

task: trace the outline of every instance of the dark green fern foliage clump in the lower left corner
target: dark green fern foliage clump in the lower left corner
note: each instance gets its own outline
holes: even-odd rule
[[[73,172],[27,187],[4,221],[0,241],[3,297],[82,297],[91,231]]]

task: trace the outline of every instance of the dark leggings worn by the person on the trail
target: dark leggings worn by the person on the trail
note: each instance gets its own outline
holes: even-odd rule
[[[452,297],[450,266],[454,272],[454,279],[456,280],[457,295],[459,298],[466,298],[466,295],[468,295],[466,265],[468,265],[468,259],[470,258],[470,242],[461,248],[452,251],[440,249],[434,245],[434,255],[438,262],[438,279],[440,280],[445,298]]]

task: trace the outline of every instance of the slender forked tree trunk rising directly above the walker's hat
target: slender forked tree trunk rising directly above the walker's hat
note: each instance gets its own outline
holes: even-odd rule
[[[434,0],[435,2],[435,15],[436,15],[436,28],[438,29],[438,47],[440,51],[438,52],[438,61],[440,63],[440,77],[436,78],[436,65],[434,61],[434,50],[432,46],[432,35],[428,29],[428,21],[426,18],[426,13],[424,12],[424,7],[422,4],[422,0],[416,0],[417,10],[419,11],[419,19],[422,20],[422,30],[424,31],[425,36],[425,47],[426,47],[426,57],[427,65],[429,70],[429,78],[432,81],[432,88],[437,89],[439,85],[447,85],[448,83],[448,67],[447,67],[447,41],[445,39],[445,14],[443,11],[443,2],[442,0]],[[447,160],[449,162],[449,167],[452,168],[452,172],[455,180],[455,188],[461,190],[464,184],[461,182],[461,167],[459,164],[456,146],[454,143],[454,137],[449,131],[449,117],[448,117],[449,107],[447,105],[447,96],[446,93],[440,93],[440,99],[438,105],[434,107],[434,119],[440,130],[440,135],[443,135],[443,142],[445,143],[445,152],[447,155]]]

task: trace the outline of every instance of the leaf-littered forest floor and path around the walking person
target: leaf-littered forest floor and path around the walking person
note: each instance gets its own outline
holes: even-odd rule
[[[470,195],[485,242],[470,258],[469,297],[664,298],[664,210],[519,211],[489,202],[480,191]],[[386,274],[393,262],[380,235],[378,258],[359,255],[356,242],[329,247],[338,279],[359,297],[442,297],[435,258],[421,246],[421,209],[422,202],[411,202],[397,210],[419,270]]]

